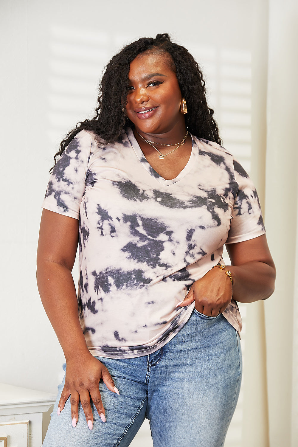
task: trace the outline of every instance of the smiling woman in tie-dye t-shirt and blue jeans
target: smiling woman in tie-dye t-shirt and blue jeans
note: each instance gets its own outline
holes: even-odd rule
[[[155,447],[223,445],[241,381],[236,300],[268,298],[275,268],[204,85],[168,34],[139,39],[56,154],[37,277],[66,376],[46,447],[128,446],[145,417]]]

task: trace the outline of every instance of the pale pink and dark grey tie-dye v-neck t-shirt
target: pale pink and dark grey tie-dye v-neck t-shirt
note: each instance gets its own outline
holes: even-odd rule
[[[265,232],[241,165],[219,144],[192,139],[172,180],[152,169],[130,128],[111,144],[80,131],[51,174],[42,207],[80,221],[78,308],[93,355],[138,357],[164,346],[194,308],[176,304],[223,262],[225,242]],[[234,300],[223,315],[240,331]]]

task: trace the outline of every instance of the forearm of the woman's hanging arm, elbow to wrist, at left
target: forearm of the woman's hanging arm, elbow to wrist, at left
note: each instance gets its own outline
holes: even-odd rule
[[[78,316],[76,287],[71,271],[58,263],[39,262],[37,283],[43,307],[66,360],[88,353]]]

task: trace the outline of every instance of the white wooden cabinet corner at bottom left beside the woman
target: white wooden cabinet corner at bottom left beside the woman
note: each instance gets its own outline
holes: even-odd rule
[[[56,396],[0,384],[0,447],[41,447],[42,413]]]

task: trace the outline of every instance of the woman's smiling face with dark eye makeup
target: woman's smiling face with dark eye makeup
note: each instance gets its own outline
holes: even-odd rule
[[[130,63],[126,114],[139,133],[167,134],[173,138],[181,134],[183,138],[182,97],[169,57],[143,53]]]

